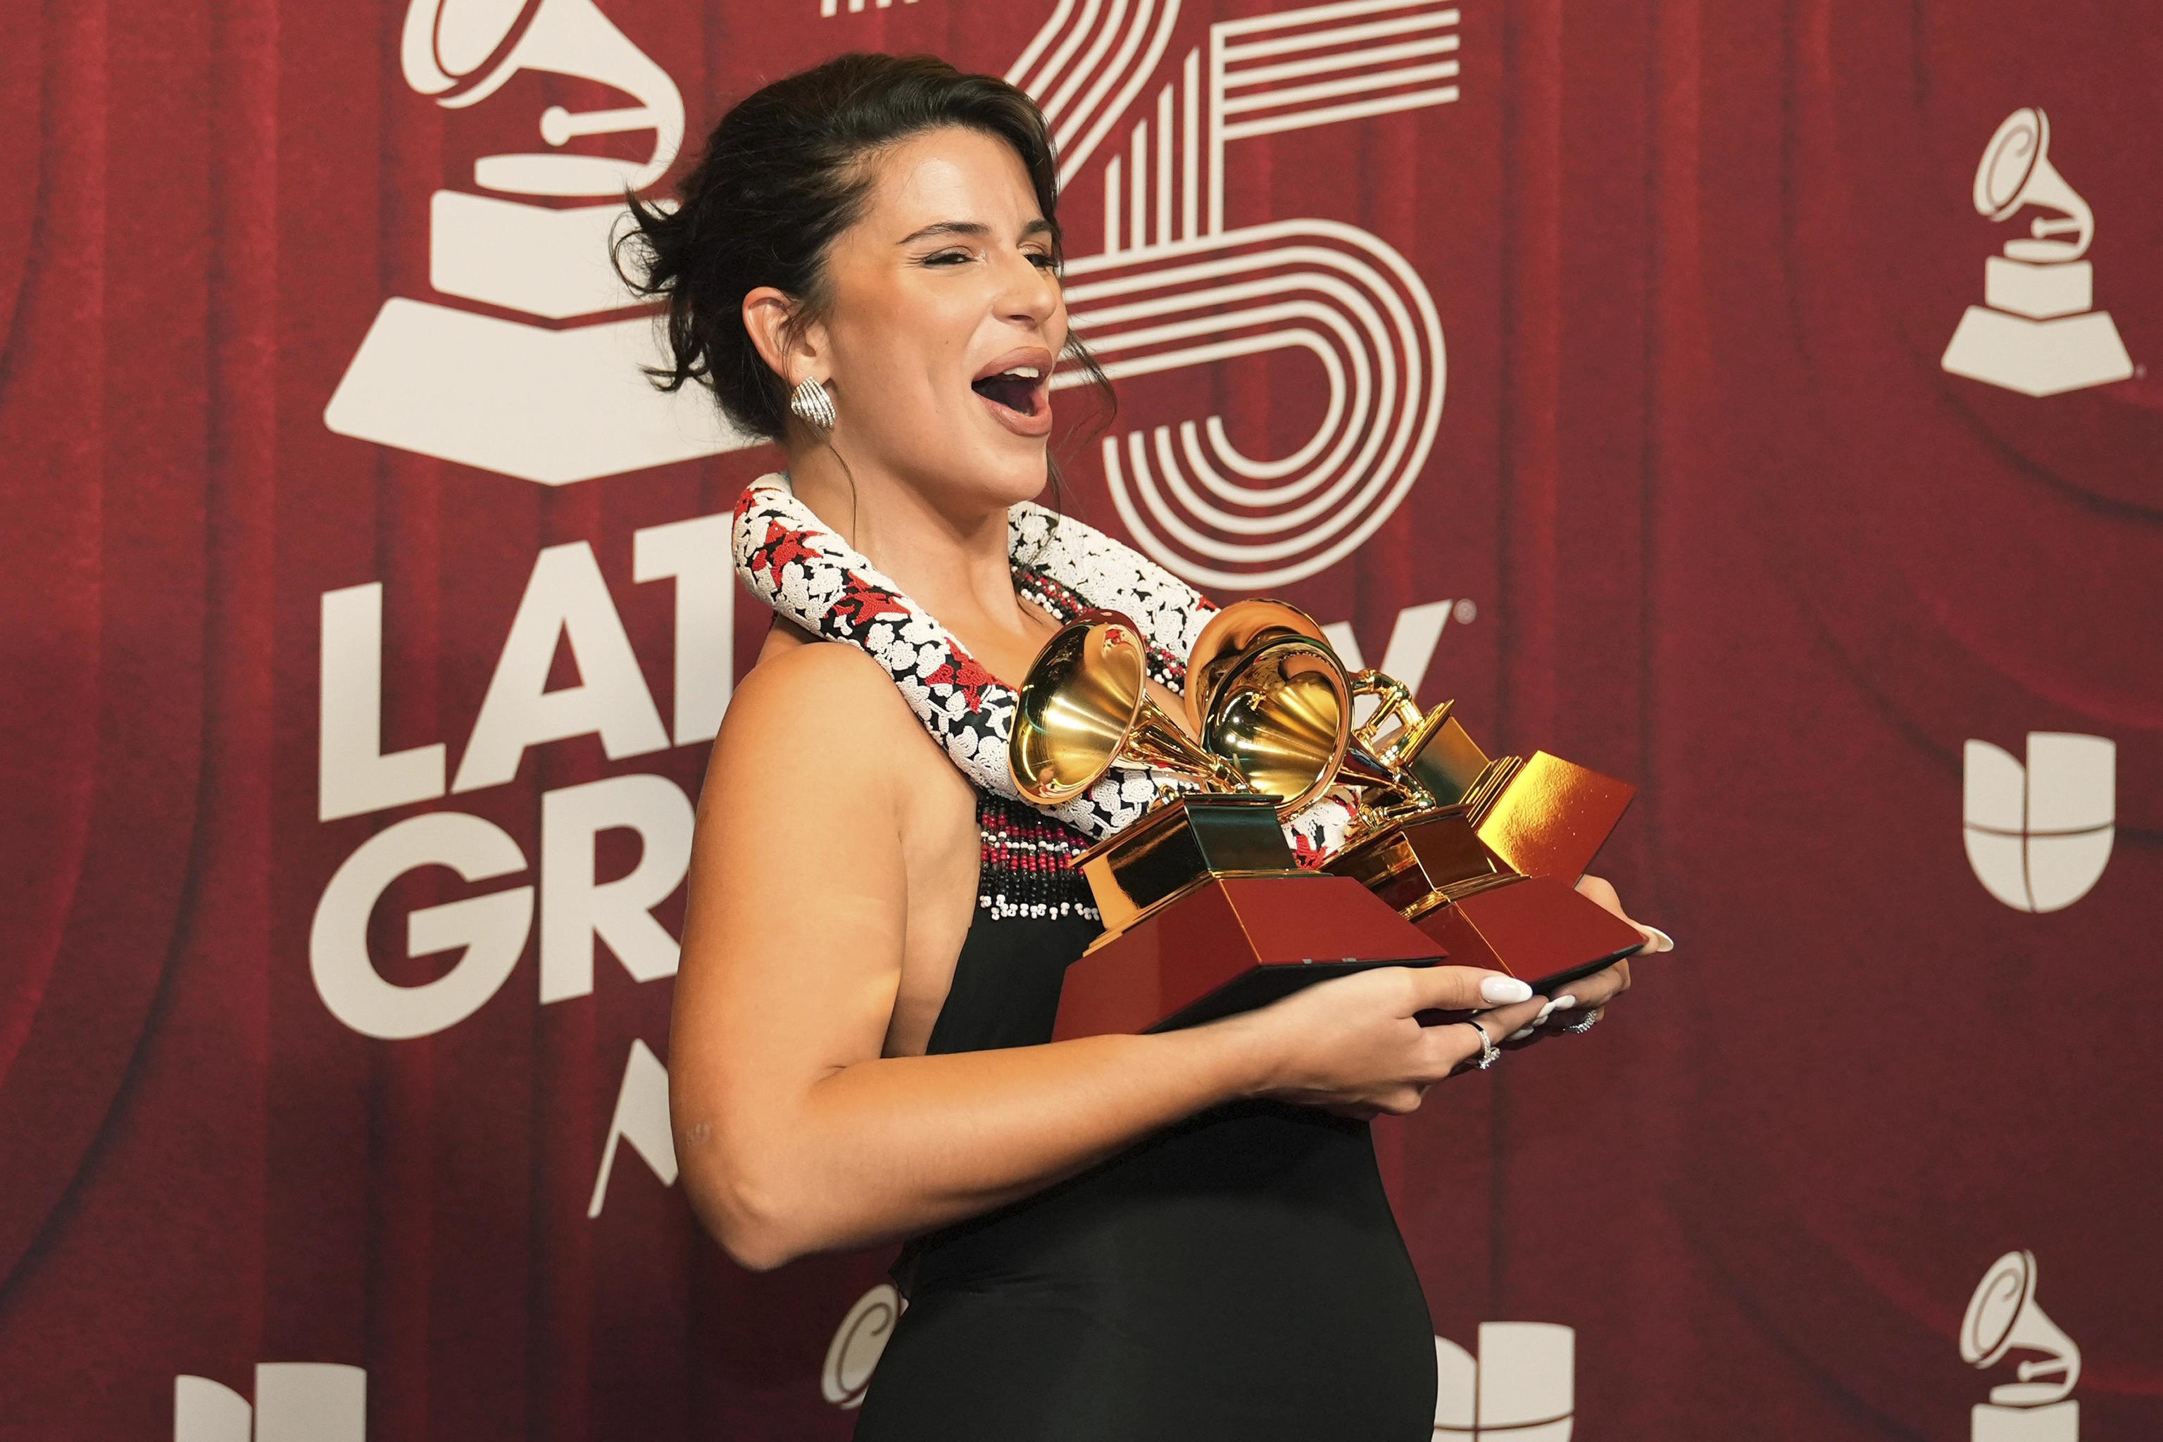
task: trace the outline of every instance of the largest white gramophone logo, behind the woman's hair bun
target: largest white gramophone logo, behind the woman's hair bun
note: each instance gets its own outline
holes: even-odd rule
[[[435,192],[435,292],[532,320],[392,296],[322,422],[337,435],[549,486],[748,445],[701,387],[668,396],[647,383],[640,363],[658,355],[653,318],[632,311],[638,301],[608,262],[623,190],[660,179],[684,143],[684,97],[668,71],[593,0],[413,0],[400,63],[409,86],[452,110],[489,99],[528,69],[599,80],[636,104],[549,106],[539,130],[552,149],[482,156],[478,195]],[[645,160],[556,149],[575,136],[638,130],[653,132]]]

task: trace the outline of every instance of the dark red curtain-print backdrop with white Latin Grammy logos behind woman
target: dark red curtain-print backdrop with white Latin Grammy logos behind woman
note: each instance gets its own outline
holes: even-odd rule
[[[0,1438],[848,1436],[891,1250],[666,1122],[779,456],[603,259],[844,50],[1049,115],[1077,515],[1642,785],[1678,949],[1376,1126],[1436,1438],[2163,1436],[2137,6],[0,15]]]

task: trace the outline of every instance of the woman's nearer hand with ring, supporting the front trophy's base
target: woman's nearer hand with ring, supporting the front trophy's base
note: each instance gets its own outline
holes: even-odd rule
[[[1255,1096],[1339,1116],[1404,1116],[1430,1085],[1482,1055],[1471,1025],[1423,1027],[1419,1012],[1482,1012],[1499,1042],[1547,1005],[1531,988],[1477,966],[1374,966],[1330,977],[1220,1027],[1244,1027],[1261,1057]]]

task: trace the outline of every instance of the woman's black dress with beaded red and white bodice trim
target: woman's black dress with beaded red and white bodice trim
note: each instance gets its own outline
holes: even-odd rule
[[[1097,934],[1077,832],[980,796],[930,1051],[1051,1038]],[[1425,1442],[1434,1330],[1365,1122],[1233,1103],[913,1239],[857,1442]]]

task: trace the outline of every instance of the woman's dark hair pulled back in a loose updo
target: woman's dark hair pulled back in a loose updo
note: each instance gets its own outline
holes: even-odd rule
[[[649,368],[664,391],[699,380],[742,430],[779,441],[789,387],[744,329],[744,296],[772,285],[800,307],[792,324],[820,316],[826,246],[863,214],[876,153],[941,125],[1006,141],[1036,188],[1060,249],[1058,160],[1043,110],[997,76],[969,76],[930,54],[839,54],[774,80],[720,117],[696,169],[677,186],[675,210],[627,197],[636,229],[619,242],[616,270],[645,296],[668,303],[668,365]],[[623,264],[623,246],[634,264]],[[1066,359],[1088,374],[1105,409],[1116,396],[1103,368],[1069,335]],[[1051,463],[1058,480],[1058,463]]]

